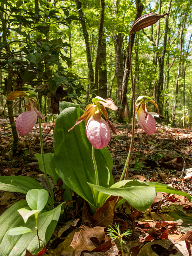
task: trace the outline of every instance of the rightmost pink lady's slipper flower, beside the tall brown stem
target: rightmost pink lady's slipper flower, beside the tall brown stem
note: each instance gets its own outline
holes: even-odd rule
[[[158,106],[153,100],[147,100],[147,101],[142,100],[141,102],[139,102],[136,105],[136,116],[137,116],[138,125],[141,128],[143,128],[143,130],[146,132],[146,134],[152,135],[152,134],[154,134],[154,132],[156,130],[156,121],[154,119],[154,116],[158,117],[159,115],[155,112],[147,111],[146,102],[148,102],[148,101],[152,102],[156,106],[156,108],[159,112]],[[140,108],[139,108],[139,106],[140,106]],[[139,110],[138,110],[138,108],[139,108]]]

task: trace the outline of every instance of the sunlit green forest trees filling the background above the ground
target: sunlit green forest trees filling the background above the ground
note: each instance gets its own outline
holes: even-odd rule
[[[131,38],[136,98],[154,98],[158,122],[188,125],[191,6],[180,0],[1,0],[1,112],[11,91],[36,90],[44,116],[59,113],[60,100],[84,106],[99,95],[117,104],[118,121],[130,120],[128,33],[134,20],[154,12],[169,15]],[[22,99],[14,107],[23,112]]]

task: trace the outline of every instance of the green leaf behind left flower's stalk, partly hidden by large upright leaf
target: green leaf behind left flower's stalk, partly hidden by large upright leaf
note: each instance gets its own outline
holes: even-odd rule
[[[42,154],[35,154],[35,157],[38,160],[40,170],[44,172]],[[54,180],[55,184],[57,184],[57,181],[60,178],[60,176],[55,166],[54,153],[44,154],[44,160],[47,174]],[[72,200],[71,189],[65,183],[63,183],[62,189],[66,189],[63,194],[64,200]]]

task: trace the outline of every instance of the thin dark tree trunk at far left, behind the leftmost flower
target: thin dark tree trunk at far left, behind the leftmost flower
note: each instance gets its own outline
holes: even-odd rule
[[[1,7],[4,7],[4,4],[1,3]],[[2,39],[3,42],[6,43],[5,49],[7,52],[10,52],[10,46],[7,43],[7,38],[6,38],[6,20],[4,19],[3,16],[3,12],[0,12],[0,18],[1,18],[1,22],[2,22]],[[13,68],[9,67],[8,68],[8,79],[6,80],[6,96],[8,96],[8,94],[10,94],[12,92],[12,80],[13,80]],[[13,102],[7,100],[7,108],[8,108],[8,114],[9,114],[9,121],[10,121],[10,125],[11,125],[11,129],[12,129],[12,134],[13,134],[13,144],[12,144],[12,150],[13,150],[13,154],[16,153],[17,150],[17,146],[18,146],[18,133],[17,133],[17,129],[16,129],[16,124],[14,121],[14,116],[13,116]]]

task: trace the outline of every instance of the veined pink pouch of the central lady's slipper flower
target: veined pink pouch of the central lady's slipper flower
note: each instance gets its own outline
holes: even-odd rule
[[[88,120],[86,135],[94,148],[100,149],[106,147],[110,142],[111,133],[107,122],[101,117],[101,115],[100,120],[98,120],[98,118],[94,118],[94,116]]]

